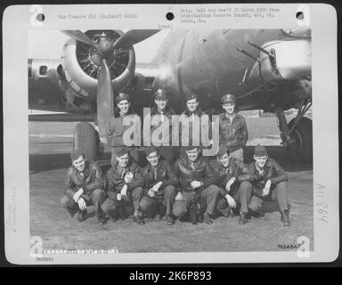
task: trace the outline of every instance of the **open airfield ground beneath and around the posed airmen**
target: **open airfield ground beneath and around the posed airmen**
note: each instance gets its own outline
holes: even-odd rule
[[[238,216],[221,216],[211,225],[176,221],[175,225],[167,226],[164,217],[161,221],[147,218],[146,224],[141,226],[129,217],[100,226],[94,217],[94,208],[88,208],[87,220],[77,224],[60,205],[66,169],[70,164],[72,124],[30,122],[30,234],[40,236],[45,249],[117,249],[118,252],[296,250],[280,246],[297,245],[300,236],[307,236],[313,248],[313,166],[289,161],[286,151],[277,146],[278,141],[274,142],[277,135],[279,137],[274,118],[249,120],[250,138],[258,142],[258,138],[262,140],[269,136],[270,156],[289,175],[290,227],[281,224],[277,211],[266,213],[263,218],[252,218],[244,225],[238,224]],[[251,161],[252,153],[253,147],[248,146],[245,162]],[[109,153],[106,153],[102,159],[108,158]],[[108,164],[102,163],[102,166],[103,171],[108,169]],[[274,208],[276,205],[269,206]]]

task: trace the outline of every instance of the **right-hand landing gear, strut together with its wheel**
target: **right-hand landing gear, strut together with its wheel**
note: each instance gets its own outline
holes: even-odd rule
[[[304,115],[312,105],[311,101],[301,102],[296,118],[290,120],[289,125],[283,110],[274,107],[281,130],[281,141],[297,162],[311,162],[313,160],[313,121]]]

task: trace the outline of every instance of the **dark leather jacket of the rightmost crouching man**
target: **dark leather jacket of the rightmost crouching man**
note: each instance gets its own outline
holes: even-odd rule
[[[257,196],[260,197],[267,180],[271,180],[271,188],[278,183],[288,180],[288,176],[285,174],[285,171],[277,162],[275,162],[274,159],[267,159],[263,175],[259,175],[259,172],[256,169],[256,162],[252,162],[249,165],[249,171],[251,175],[253,175],[253,188],[255,189]]]

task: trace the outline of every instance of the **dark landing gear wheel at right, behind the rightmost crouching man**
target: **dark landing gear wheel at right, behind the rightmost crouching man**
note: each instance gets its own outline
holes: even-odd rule
[[[295,119],[289,122],[289,129],[294,125]],[[313,121],[310,118],[301,118],[298,125],[290,134],[294,144],[289,148],[291,159],[297,162],[313,161]]]

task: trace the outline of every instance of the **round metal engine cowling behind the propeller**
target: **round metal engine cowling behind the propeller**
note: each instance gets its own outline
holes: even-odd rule
[[[105,38],[115,42],[123,35],[120,30],[88,30],[85,34],[93,40]],[[63,47],[62,68],[68,84],[85,100],[96,100],[98,75],[102,56],[110,68],[111,84],[115,93],[125,87],[134,77],[135,53],[129,49],[117,49],[113,53],[100,55],[93,46],[85,45],[70,38]]]

